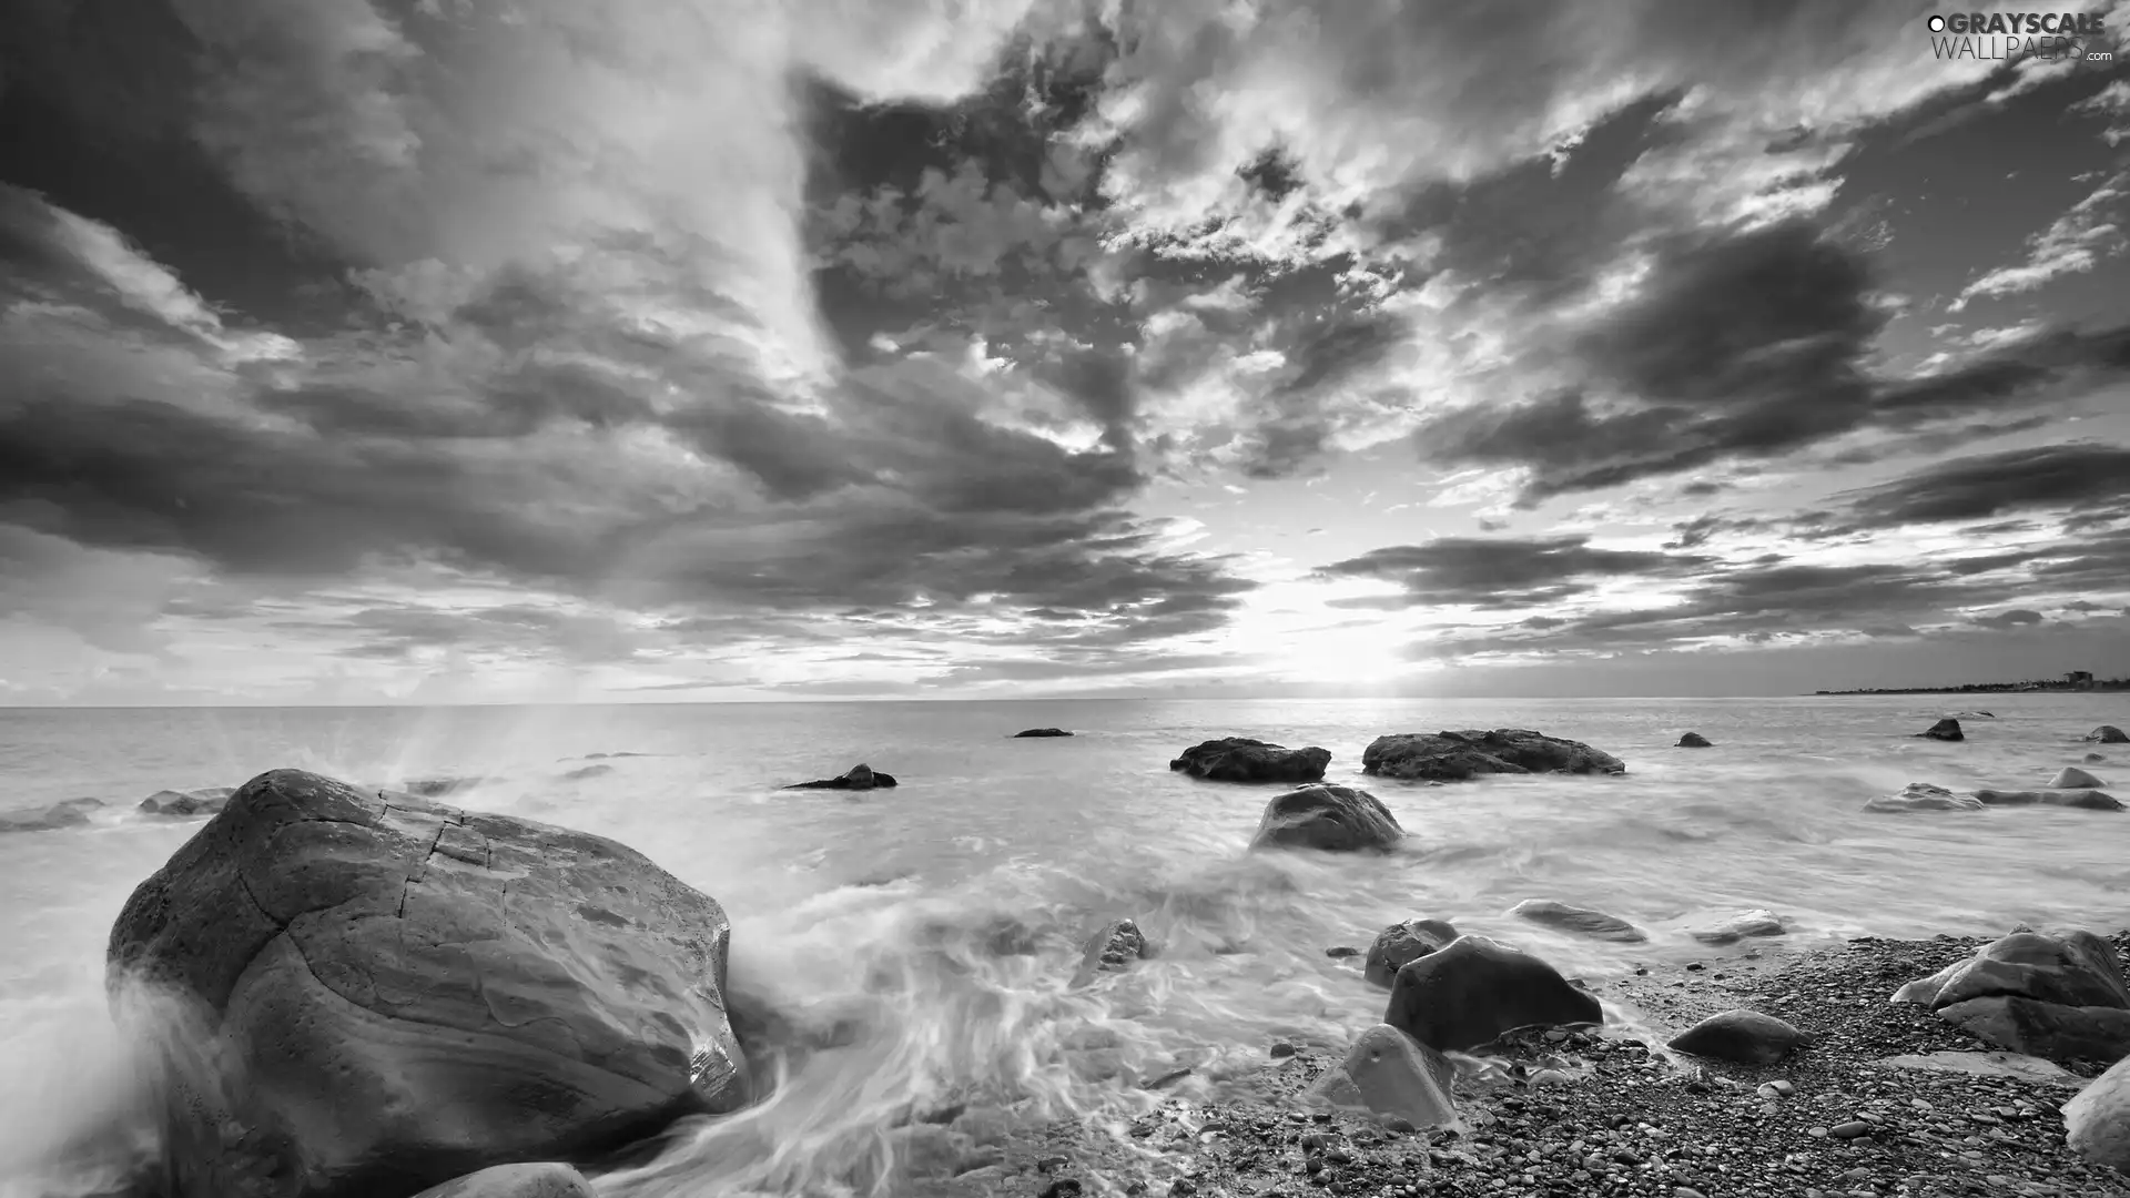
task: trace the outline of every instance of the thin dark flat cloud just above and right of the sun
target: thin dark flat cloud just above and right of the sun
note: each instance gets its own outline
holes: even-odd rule
[[[1604,550],[1589,537],[1478,539],[1438,537],[1421,546],[1372,550],[1318,569],[1323,578],[1380,578],[1404,595],[1382,601],[1340,601],[1333,608],[1419,608],[1470,603],[1531,608],[1587,595],[1608,578],[1676,578],[1710,558],[1655,550]]]

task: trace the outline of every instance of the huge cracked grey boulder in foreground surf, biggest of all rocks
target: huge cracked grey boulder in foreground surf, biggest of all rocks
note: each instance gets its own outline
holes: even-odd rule
[[[362,1198],[737,1108],[728,942],[611,840],[277,770],[141,883],[109,976],[213,1030],[215,1074],[170,1062],[170,1198]]]

